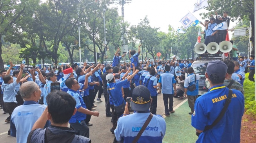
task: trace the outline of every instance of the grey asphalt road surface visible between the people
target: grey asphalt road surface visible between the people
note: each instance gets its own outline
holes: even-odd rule
[[[97,105],[96,111],[100,113],[99,117],[92,116],[90,123],[90,139],[93,143],[113,143],[114,134],[109,131],[112,127],[111,117],[105,116],[105,101],[102,95],[102,103],[96,101],[94,105]],[[180,104],[184,99],[174,98],[173,107]],[[9,114],[3,114],[4,111],[0,110],[0,143],[16,143],[16,138],[7,136],[7,131],[9,130],[10,124],[5,123],[4,120],[9,116]],[[158,106],[157,114],[164,114],[163,105],[163,95],[158,95]]]

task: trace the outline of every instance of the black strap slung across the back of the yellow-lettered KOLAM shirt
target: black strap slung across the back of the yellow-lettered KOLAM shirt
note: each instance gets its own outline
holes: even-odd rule
[[[231,81],[232,82],[232,81]],[[214,120],[214,122],[212,123],[212,125],[208,125],[205,127],[205,129],[203,130],[206,131],[206,130],[209,130],[211,129],[212,127],[214,127],[218,122],[220,122],[220,120],[222,119],[222,117],[224,116],[225,112],[227,111],[227,107],[229,107],[229,104],[231,102],[231,98],[232,98],[232,94],[233,94],[233,91],[231,89],[229,89],[229,95],[226,99],[226,102],[224,104],[224,107],[222,109],[222,111],[220,112],[219,116]],[[201,132],[202,133],[202,132]],[[199,136],[201,133],[199,132],[196,132],[196,136]]]

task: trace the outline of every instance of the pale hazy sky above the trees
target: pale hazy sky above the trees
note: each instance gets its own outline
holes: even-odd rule
[[[162,32],[168,32],[168,25],[174,29],[182,26],[180,20],[189,11],[192,13],[195,3],[196,0],[133,0],[124,6],[124,20],[128,21],[130,25],[138,25],[140,19],[143,20],[147,16],[151,27],[160,27]],[[113,6],[118,7],[119,15],[122,16],[121,6]],[[203,22],[204,20],[199,14],[206,12],[205,9],[201,9],[192,14]],[[234,25],[235,23],[231,21],[230,28]],[[204,29],[203,26],[202,29]]]

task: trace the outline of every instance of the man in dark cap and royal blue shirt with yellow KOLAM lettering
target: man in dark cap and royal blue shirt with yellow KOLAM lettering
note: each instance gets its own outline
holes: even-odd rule
[[[205,71],[205,77],[209,80],[211,88],[203,96],[196,99],[191,125],[196,132],[201,133],[197,143],[240,143],[241,118],[244,112],[243,94],[232,89],[231,102],[223,117],[214,127],[205,130],[212,125],[220,115],[229,89],[223,84],[228,76],[227,65],[220,60],[210,61]]]

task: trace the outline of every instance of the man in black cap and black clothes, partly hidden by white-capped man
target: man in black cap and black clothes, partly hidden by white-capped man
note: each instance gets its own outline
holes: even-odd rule
[[[103,74],[102,83],[103,83],[103,93],[105,98],[105,107],[106,107],[106,116],[112,117],[112,113],[110,112],[110,104],[109,104],[109,93],[107,93],[107,79],[106,76],[109,73],[112,73],[112,66],[105,66],[106,72]]]

